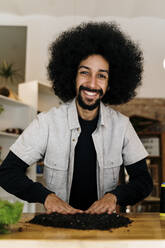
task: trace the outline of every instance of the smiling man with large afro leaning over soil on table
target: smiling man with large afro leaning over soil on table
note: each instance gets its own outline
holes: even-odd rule
[[[62,33],[50,48],[49,78],[65,103],[41,113],[11,146],[0,186],[47,213],[112,213],[150,194],[147,152],[129,119],[105,104],[121,104],[140,85],[142,52],[114,23],[86,23]],[[46,188],[25,175],[44,159]],[[124,164],[130,181],[118,185]]]

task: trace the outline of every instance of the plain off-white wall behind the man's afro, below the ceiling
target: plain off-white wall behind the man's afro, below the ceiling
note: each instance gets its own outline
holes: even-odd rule
[[[165,19],[137,17],[99,17],[84,16],[50,17],[50,16],[14,16],[0,15],[0,25],[26,25],[27,58],[26,81],[47,81],[46,65],[48,46],[58,33],[77,25],[82,21],[105,20],[116,21],[123,31],[138,41],[145,58],[143,86],[138,97],[165,97]]]

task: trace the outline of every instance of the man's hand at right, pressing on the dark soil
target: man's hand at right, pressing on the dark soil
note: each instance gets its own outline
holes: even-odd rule
[[[105,194],[100,200],[95,201],[86,211],[86,214],[112,214],[116,210],[117,197],[111,193]]]

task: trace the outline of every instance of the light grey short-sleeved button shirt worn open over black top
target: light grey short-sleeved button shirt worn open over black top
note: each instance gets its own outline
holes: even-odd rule
[[[75,99],[53,107],[24,130],[10,147],[28,165],[44,158],[46,187],[69,202],[74,169],[74,151],[81,133]],[[118,184],[120,166],[135,163],[146,156],[129,118],[103,103],[92,134],[97,154],[98,199]],[[85,180],[85,178],[84,178]]]

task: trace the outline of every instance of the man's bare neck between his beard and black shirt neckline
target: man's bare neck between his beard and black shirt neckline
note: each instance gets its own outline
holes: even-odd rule
[[[78,102],[76,101],[77,111],[80,117],[84,120],[91,121],[93,120],[97,114],[99,107],[95,108],[94,110],[83,109]]]

